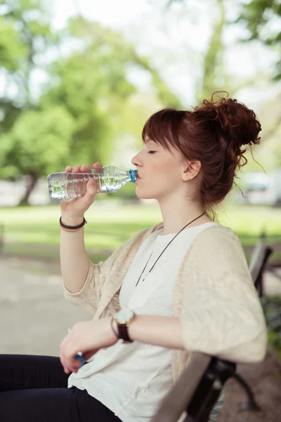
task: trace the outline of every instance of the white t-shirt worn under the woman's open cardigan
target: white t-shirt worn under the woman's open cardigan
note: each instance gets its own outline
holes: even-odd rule
[[[124,277],[120,307],[133,309],[136,314],[173,316],[174,283],[183,257],[197,234],[213,225],[219,226],[208,222],[181,231],[150,273],[157,257],[176,234],[163,236],[163,229],[159,229],[148,236]],[[146,262],[148,265],[136,286]],[[118,340],[115,345],[100,349],[91,362],[72,373],[68,388],[72,385],[87,390],[123,422],[148,422],[173,385],[171,350]]]

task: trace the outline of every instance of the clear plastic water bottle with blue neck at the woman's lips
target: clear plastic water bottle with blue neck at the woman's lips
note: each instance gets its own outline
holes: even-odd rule
[[[60,172],[48,174],[48,191],[52,200],[79,198],[86,193],[89,180],[96,180],[96,193],[113,193],[122,186],[134,182],[138,170],[121,170],[114,165],[93,169],[89,173]]]

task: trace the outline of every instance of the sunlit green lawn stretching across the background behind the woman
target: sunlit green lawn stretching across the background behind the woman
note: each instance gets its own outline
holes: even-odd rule
[[[4,252],[27,257],[59,257],[59,204],[45,207],[0,208],[0,230],[4,226]],[[229,226],[242,244],[254,245],[262,232],[268,241],[281,242],[281,211],[271,207],[226,204],[218,212],[219,222]],[[152,205],[117,206],[114,201],[100,201],[87,212],[85,245],[94,261],[110,253],[138,231],[162,221],[159,207]],[[1,232],[0,232],[1,237]],[[281,261],[281,252],[272,255]]]

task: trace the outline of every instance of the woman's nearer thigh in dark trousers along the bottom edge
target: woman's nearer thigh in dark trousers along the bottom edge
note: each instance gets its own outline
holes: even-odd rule
[[[121,422],[86,390],[35,388],[0,392],[1,422]]]

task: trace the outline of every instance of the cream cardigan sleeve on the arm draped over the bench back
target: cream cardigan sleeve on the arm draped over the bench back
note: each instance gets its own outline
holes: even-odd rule
[[[186,350],[260,362],[266,321],[240,240],[227,227],[195,238],[183,264],[181,328]]]

